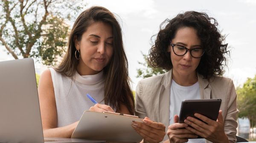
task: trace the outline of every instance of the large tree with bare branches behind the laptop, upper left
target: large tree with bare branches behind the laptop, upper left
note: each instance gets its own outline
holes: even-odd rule
[[[67,45],[69,25],[82,4],[75,0],[1,0],[0,45],[15,59],[57,62]]]

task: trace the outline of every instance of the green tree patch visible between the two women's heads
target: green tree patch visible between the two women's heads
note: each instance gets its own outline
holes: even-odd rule
[[[137,76],[136,76],[137,78],[138,77],[147,78],[150,76],[156,76],[156,75],[160,75],[167,72],[167,70],[164,70],[160,67],[156,67],[156,68],[152,67],[148,63],[147,55],[143,54],[142,52],[141,54],[143,55],[143,59],[145,60],[145,62],[138,62],[143,66],[143,68],[137,69]]]

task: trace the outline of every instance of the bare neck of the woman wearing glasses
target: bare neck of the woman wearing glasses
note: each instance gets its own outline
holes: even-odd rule
[[[196,71],[189,75],[180,75],[177,71],[172,70],[172,79],[181,86],[191,86],[198,81]]]

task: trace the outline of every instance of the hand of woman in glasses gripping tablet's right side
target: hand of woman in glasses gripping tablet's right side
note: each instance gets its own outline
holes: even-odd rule
[[[201,119],[205,123],[196,118],[188,117],[184,121],[189,125],[186,129],[213,143],[229,143],[227,135],[224,132],[224,121],[221,113],[222,111],[220,110],[217,121],[213,121],[204,115],[195,113],[195,117]]]

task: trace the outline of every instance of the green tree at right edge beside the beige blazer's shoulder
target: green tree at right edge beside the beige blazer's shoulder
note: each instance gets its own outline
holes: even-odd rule
[[[239,117],[247,117],[251,126],[256,125],[256,76],[248,78],[243,87],[236,89]]]

